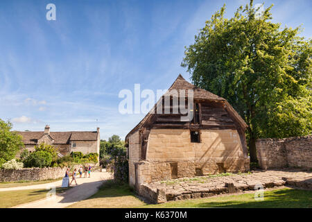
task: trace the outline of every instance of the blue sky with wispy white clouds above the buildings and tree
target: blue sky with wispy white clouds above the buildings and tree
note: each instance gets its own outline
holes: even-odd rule
[[[184,46],[226,3],[249,1],[0,1],[0,118],[14,130],[96,130],[125,135],[144,114],[119,114],[121,89],[167,89]],[[56,20],[46,20],[46,5]],[[254,1],[263,3],[263,1]],[[312,1],[264,1],[274,22],[312,36]],[[98,121],[96,121],[96,119]]]

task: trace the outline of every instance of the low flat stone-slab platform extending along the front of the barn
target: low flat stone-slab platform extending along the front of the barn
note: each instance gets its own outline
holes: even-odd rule
[[[150,203],[245,193],[272,187],[312,189],[312,172],[301,169],[253,171],[230,176],[180,178],[140,185],[138,191]]]

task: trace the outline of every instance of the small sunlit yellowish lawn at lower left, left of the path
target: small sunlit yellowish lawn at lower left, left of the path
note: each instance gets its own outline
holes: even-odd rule
[[[56,193],[60,194],[69,188],[57,188]],[[14,191],[0,191],[0,208],[14,207],[23,203],[39,200],[46,197],[48,189],[24,189]]]

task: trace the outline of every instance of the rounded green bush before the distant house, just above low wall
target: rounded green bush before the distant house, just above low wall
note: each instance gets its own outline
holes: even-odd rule
[[[35,151],[28,155],[24,161],[25,167],[49,167],[52,162],[51,153],[46,151]]]

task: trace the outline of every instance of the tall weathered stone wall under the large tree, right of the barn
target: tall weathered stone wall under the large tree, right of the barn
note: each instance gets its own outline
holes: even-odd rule
[[[302,167],[312,169],[312,135],[285,139],[257,139],[262,169]]]

